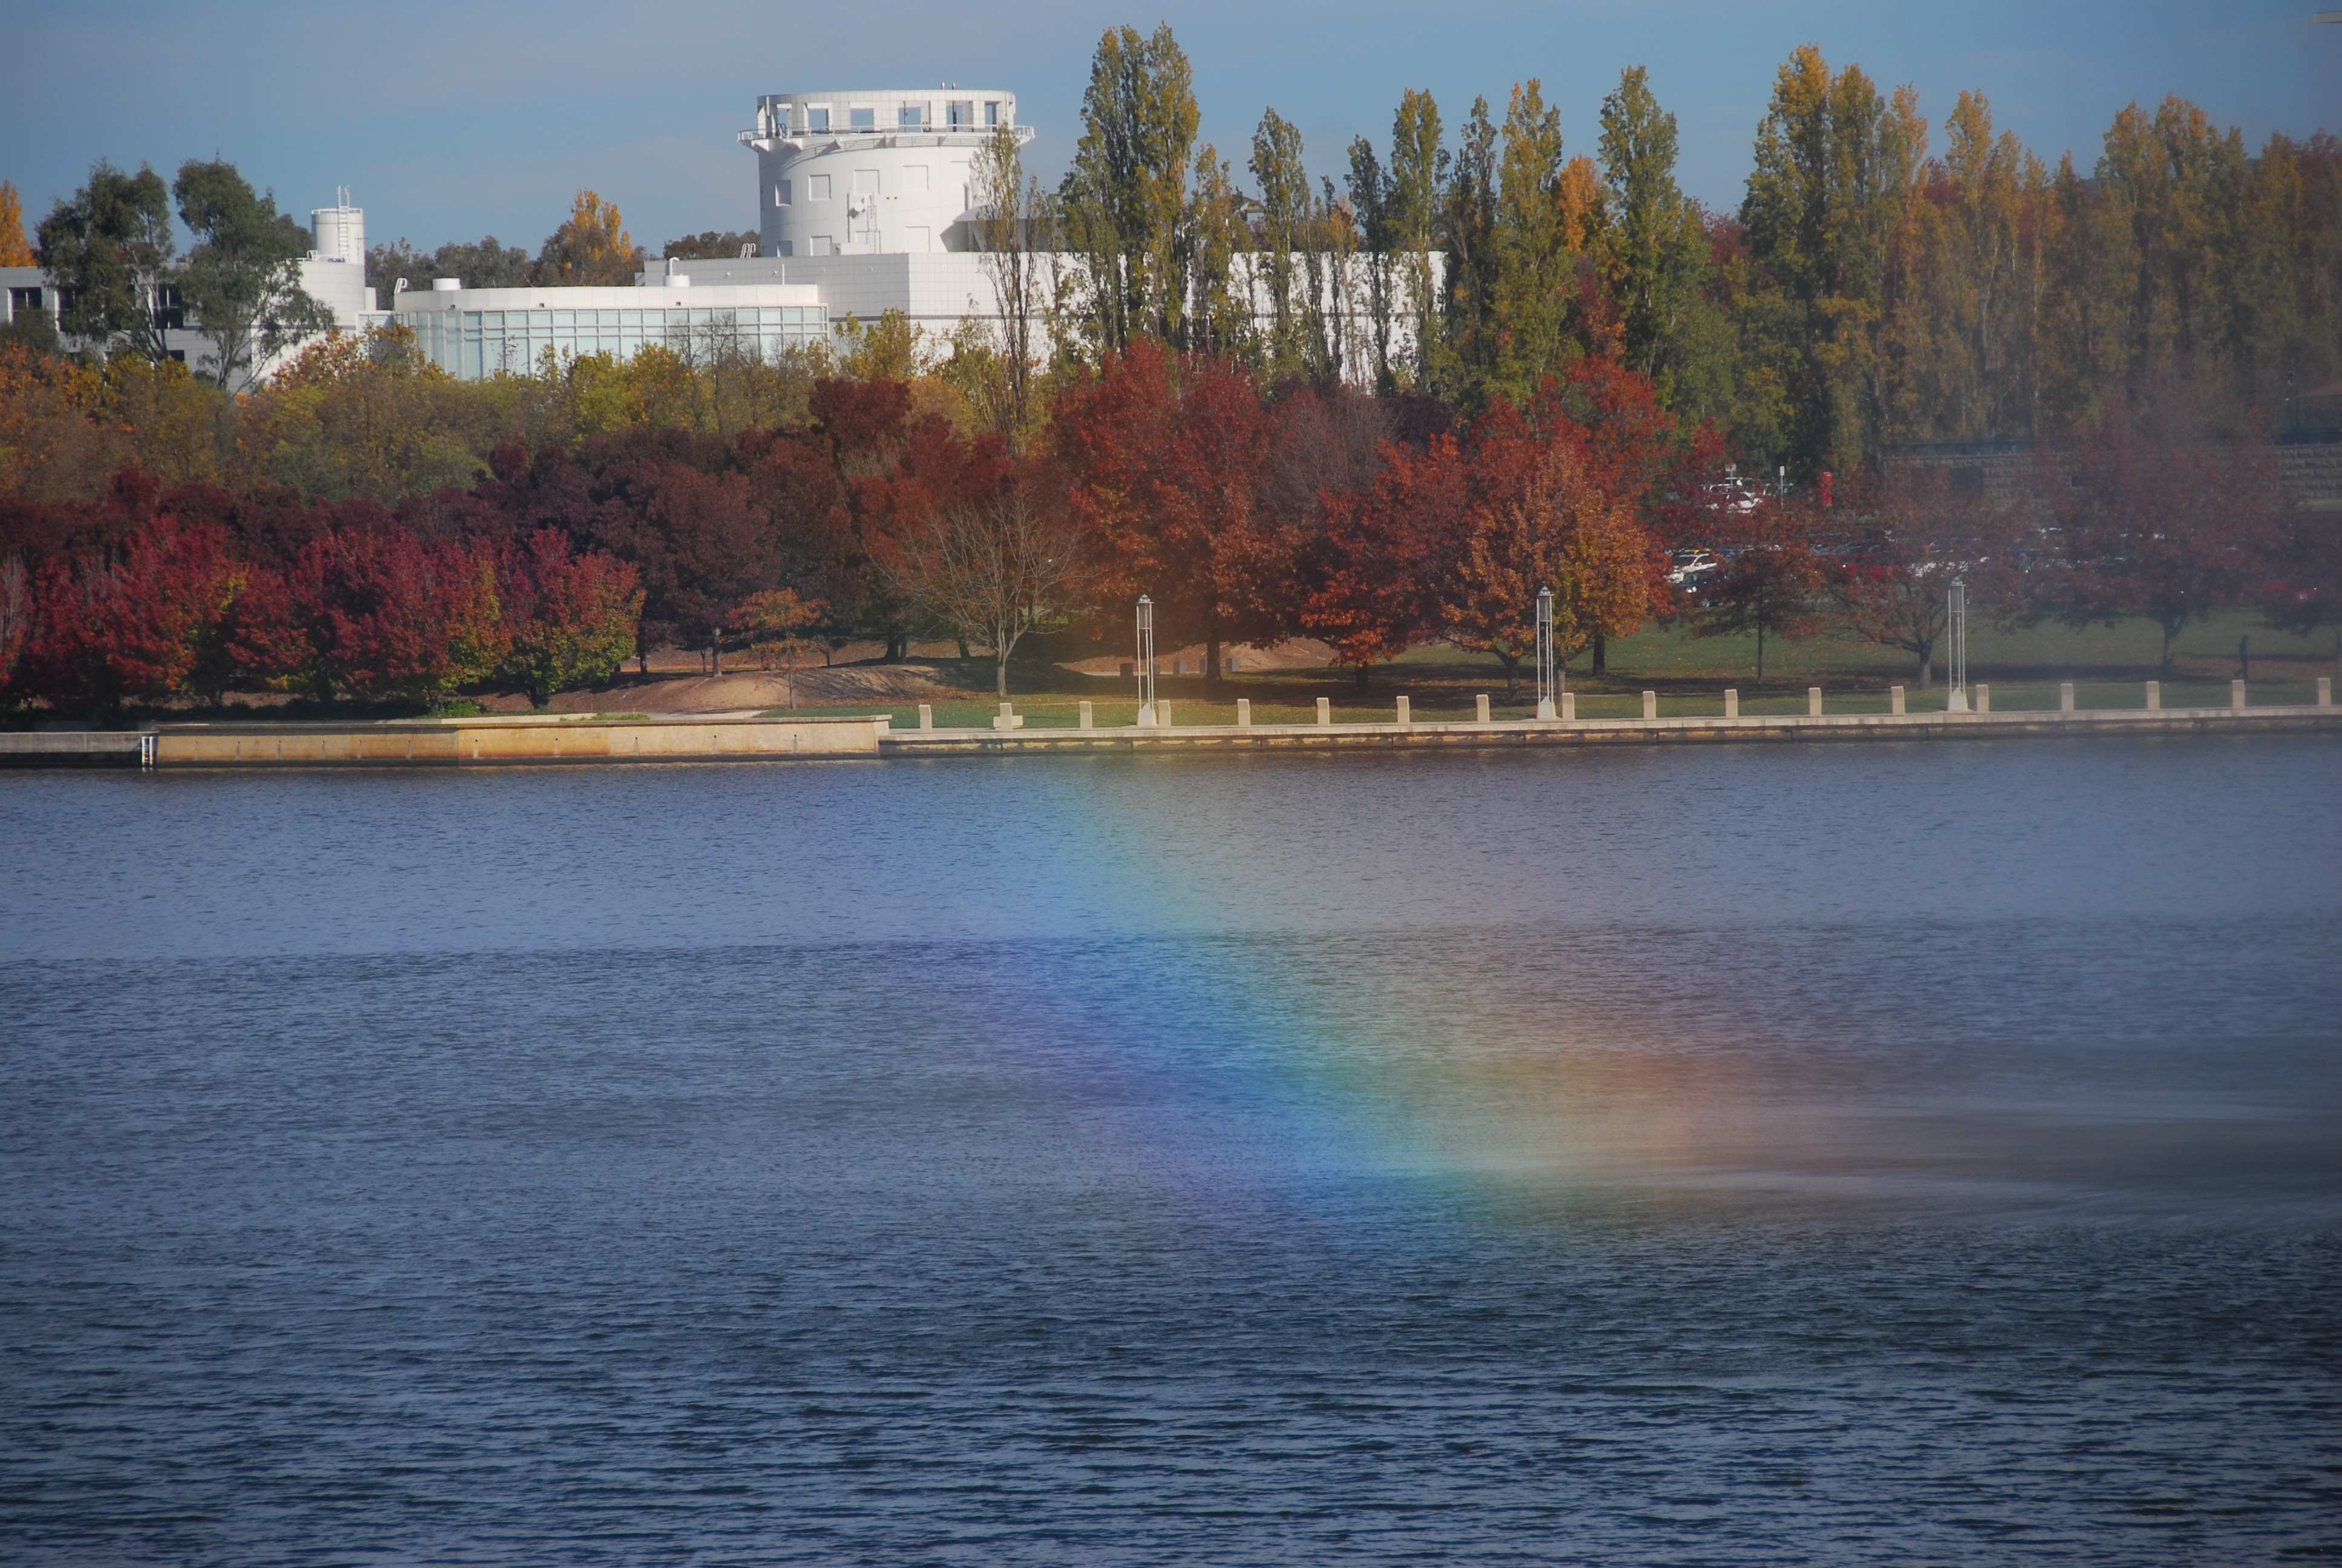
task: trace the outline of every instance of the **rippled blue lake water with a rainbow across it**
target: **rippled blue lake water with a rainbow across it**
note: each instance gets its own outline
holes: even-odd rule
[[[2342,745],[0,776],[0,1556],[2342,1552]]]

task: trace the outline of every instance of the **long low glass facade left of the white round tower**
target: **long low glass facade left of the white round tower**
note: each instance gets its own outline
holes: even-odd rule
[[[829,338],[829,312],[820,305],[424,309],[400,312],[398,323],[415,328],[424,359],[466,382],[534,370],[548,349],[555,361],[583,354],[632,359],[653,342],[677,354],[738,347],[778,359]]]

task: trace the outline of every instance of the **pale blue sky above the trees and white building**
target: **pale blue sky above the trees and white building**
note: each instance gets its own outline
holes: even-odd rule
[[[2326,2],[12,5],[0,178],[30,223],[98,157],[171,173],[218,155],[302,220],[349,185],[372,241],[494,232],[532,251],[593,185],[656,246],[754,223],[754,155],[733,131],[761,91],[1007,87],[1040,129],[1035,166],[1056,171],[1098,33],[1171,21],[1204,136],[1239,169],[1262,105],[1300,124],[1314,169],[1340,173],[1351,136],[1386,143],[1401,89],[1429,87],[1454,127],[1473,94],[1501,105],[1532,75],[1562,108],[1567,150],[1593,152],[1602,94],[1639,63],[1682,124],[1684,188],[1728,206],[1773,70],[1801,42],[1881,84],[1916,82],[1934,124],[1981,87],[1998,124],[2087,164],[2115,110],[2171,91],[2255,145],[2272,129],[2342,131],[2342,26],[2312,21]]]

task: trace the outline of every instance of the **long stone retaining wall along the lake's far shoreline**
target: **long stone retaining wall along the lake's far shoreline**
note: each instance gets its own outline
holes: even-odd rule
[[[513,766],[965,757],[1021,752],[1490,750],[2080,736],[2342,734],[2342,708],[2082,708],[2066,713],[1803,713],[1747,717],[1112,729],[895,729],[888,715],[492,715],[370,724],[150,724],[0,734],[0,769]]]

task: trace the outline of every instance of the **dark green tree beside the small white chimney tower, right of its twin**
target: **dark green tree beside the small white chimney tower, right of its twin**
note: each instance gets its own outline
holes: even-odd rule
[[[204,363],[222,389],[251,382],[302,338],[333,330],[333,312],[300,286],[309,234],[276,211],[276,192],[253,192],[234,164],[187,159],[171,195],[194,234],[178,293],[213,345]]]

